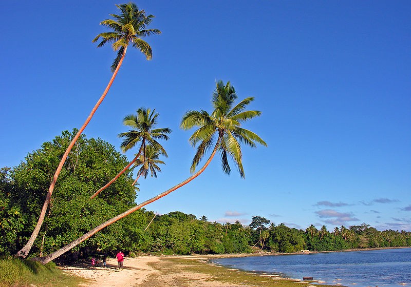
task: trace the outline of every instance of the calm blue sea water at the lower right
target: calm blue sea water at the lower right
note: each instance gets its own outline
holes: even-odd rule
[[[245,271],[345,286],[411,286],[411,248],[329,252],[306,255],[220,258],[214,263]]]

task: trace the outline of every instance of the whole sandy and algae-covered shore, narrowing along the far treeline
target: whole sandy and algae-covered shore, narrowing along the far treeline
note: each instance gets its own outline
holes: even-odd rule
[[[411,248],[411,247],[404,247]],[[373,249],[353,249],[343,251],[310,252],[352,252],[371,251],[393,248],[373,248]],[[277,256],[295,255],[296,253],[259,252],[247,254],[193,254],[193,255],[139,255],[136,257],[124,258],[124,269],[119,271],[115,258],[107,258],[107,267],[91,267],[90,262],[79,262],[69,266],[60,267],[70,275],[85,278],[81,287],[117,287],[117,286],[249,286],[247,282],[253,282],[250,286],[278,286],[292,283],[302,287],[315,287],[315,284],[322,282],[305,282],[303,278],[283,278],[279,275],[247,272],[236,269],[229,269],[212,263],[213,259],[251,257],[251,256]],[[244,282],[235,281],[241,277]],[[231,279],[230,279],[231,278]],[[227,280],[230,284],[227,285]],[[304,284],[306,283],[306,284]],[[294,284],[295,286],[295,284]],[[327,285],[321,285],[327,286]]]

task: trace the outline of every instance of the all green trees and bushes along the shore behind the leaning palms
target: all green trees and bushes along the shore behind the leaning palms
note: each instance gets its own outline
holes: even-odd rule
[[[25,161],[0,172],[0,254],[14,254],[27,242],[42,208],[55,167],[76,133],[63,132],[28,154]],[[126,171],[99,196],[90,199],[127,165],[127,159],[101,139],[84,135],[69,154],[30,256],[59,250],[101,222],[135,206],[137,189]],[[152,220],[154,218],[154,220]],[[150,223],[151,222],[151,223]],[[90,254],[126,253],[245,253],[332,251],[353,248],[411,246],[411,232],[378,231],[367,224],[327,231],[274,224],[254,216],[249,226],[240,222],[208,222],[206,216],[172,212],[155,216],[145,209],[111,224],[67,252],[62,260]]]

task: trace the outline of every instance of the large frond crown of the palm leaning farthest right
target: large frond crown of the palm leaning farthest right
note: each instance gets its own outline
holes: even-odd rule
[[[195,169],[207,151],[214,144],[217,137],[215,148],[221,153],[221,167],[226,174],[231,173],[228,162],[230,156],[241,177],[244,177],[242,167],[242,153],[240,144],[246,144],[250,147],[256,147],[255,142],[267,146],[266,142],[255,133],[241,128],[241,124],[259,116],[260,111],[246,111],[246,107],[254,100],[248,97],[241,100],[234,106],[237,99],[235,89],[227,82],[225,85],[221,80],[216,83],[216,89],[213,92],[211,104],[214,111],[209,114],[207,111],[188,111],[181,121],[181,128],[189,130],[193,127],[199,127],[190,137],[189,141],[193,147],[197,146],[197,152],[194,156],[191,166],[191,172]]]

